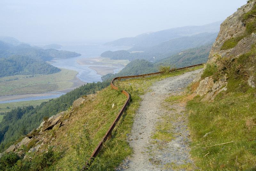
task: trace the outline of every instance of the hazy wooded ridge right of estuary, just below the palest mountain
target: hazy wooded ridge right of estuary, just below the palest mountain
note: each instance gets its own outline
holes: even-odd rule
[[[175,38],[151,47],[134,47],[128,51],[106,51],[101,54],[101,57],[111,59],[146,59],[148,61],[156,62],[163,58],[170,57],[180,51],[189,48],[211,44],[215,41],[217,33],[200,33],[192,36],[185,36]],[[132,51],[143,51],[135,52]]]

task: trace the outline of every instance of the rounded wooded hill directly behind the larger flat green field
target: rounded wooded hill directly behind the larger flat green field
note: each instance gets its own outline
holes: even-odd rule
[[[18,55],[0,58],[0,68],[0,77],[18,74],[52,74],[60,71],[59,68],[43,60]]]

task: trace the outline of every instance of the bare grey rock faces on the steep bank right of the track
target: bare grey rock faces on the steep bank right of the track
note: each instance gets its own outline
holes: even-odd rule
[[[252,50],[252,45],[256,43],[255,33],[247,35],[246,37],[241,39],[233,48],[221,50],[221,47],[228,39],[244,35],[244,32],[246,30],[246,23],[243,22],[242,16],[246,12],[252,10],[255,4],[256,1],[251,0],[249,3],[237,9],[234,14],[232,14],[227,19],[225,19],[225,21],[223,21],[223,23],[220,25],[220,32],[216,38],[216,41],[213,43],[207,63],[216,63],[218,56],[228,57],[231,60],[232,58],[237,58],[238,56]],[[254,64],[256,64],[255,61],[255,58],[250,59],[250,61],[248,60],[244,66],[246,76],[248,77],[247,82],[248,85],[250,85],[251,87],[255,87],[256,83],[256,76],[253,74],[256,70],[256,68],[254,67]],[[195,93],[196,95],[204,96],[202,101],[213,100],[214,97],[216,97],[216,95],[219,94],[221,91],[227,90],[226,85],[226,75],[222,76],[220,80],[216,82],[213,82],[212,77],[206,77],[203,80],[201,79]]]

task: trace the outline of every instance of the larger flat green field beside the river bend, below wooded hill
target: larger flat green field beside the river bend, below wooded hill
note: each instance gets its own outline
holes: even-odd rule
[[[61,71],[58,73],[36,75],[34,77],[29,77],[32,75],[14,75],[1,77],[0,96],[43,93],[70,88],[73,85],[73,82],[70,82],[70,80],[75,79],[76,74],[76,71],[61,69]]]

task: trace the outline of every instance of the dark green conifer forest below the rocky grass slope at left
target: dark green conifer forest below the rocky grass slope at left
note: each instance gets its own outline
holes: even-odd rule
[[[5,114],[0,122],[0,152],[14,144],[20,137],[37,128],[44,117],[65,111],[79,97],[95,93],[109,85],[110,81],[87,83],[69,93],[41,105],[16,108]]]

